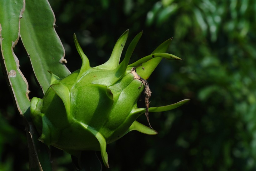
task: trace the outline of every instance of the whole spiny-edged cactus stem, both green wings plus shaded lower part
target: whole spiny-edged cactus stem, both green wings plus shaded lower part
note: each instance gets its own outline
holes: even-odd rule
[[[55,17],[47,0],[36,3],[31,0],[0,1],[1,66],[15,106],[25,120],[31,170],[51,170],[51,162],[47,146],[37,140],[39,135],[30,123],[30,91],[13,50],[22,37],[35,75],[45,92],[51,81],[51,75],[47,70],[54,71],[62,77],[70,74],[66,66],[60,62],[65,61],[65,53],[55,32],[54,23]]]

